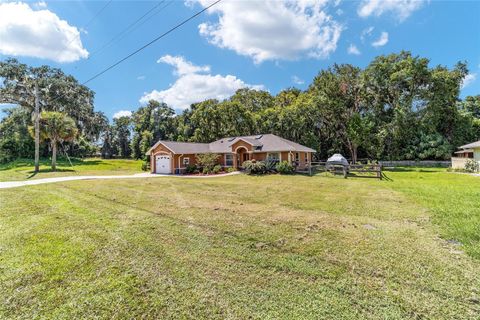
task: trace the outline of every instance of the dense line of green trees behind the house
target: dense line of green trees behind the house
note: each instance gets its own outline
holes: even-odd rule
[[[17,106],[7,109],[0,122],[0,160],[32,155],[33,100],[17,88],[21,83],[28,87],[32,74],[44,79],[44,110],[64,112],[77,124],[76,139],[66,141],[66,152],[73,156],[98,152],[106,158],[145,159],[160,139],[211,142],[273,133],[317,150],[318,159],[333,153],[352,160],[448,159],[459,145],[480,138],[480,95],[459,98],[468,74],[465,63],[449,69],[429,62],[403,51],[378,56],[363,69],[334,64],[306,90],[287,88],[272,95],[244,88],[224,101],[194,103],[179,115],[165,103],[150,101],[131,117],[109,123],[94,111],[93,92],[73,77],[10,59],[0,62],[0,103]],[[44,155],[48,148],[44,144]]]

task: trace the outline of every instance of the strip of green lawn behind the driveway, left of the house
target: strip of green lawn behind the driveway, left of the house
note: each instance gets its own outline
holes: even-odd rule
[[[142,161],[128,159],[59,159],[57,171],[52,172],[49,159],[40,161],[40,172],[34,174],[31,159],[19,159],[0,164],[0,181],[29,180],[71,175],[122,175],[142,172]]]

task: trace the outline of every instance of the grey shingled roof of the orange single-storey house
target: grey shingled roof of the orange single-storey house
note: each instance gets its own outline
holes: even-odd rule
[[[255,136],[229,137],[219,139],[212,143],[195,143],[195,142],[173,142],[158,141],[152,148],[147,151],[150,154],[152,150],[163,144],[166,148],[176,154],[192,154],[192,153],[229,153],[232,152],[232,145],[243,140],[252,145],[254,152],[278,152],[278,151],[296,151],[296,152],[315,152],[315,150],[302,146],[296,142],[281,138],[274,134],[261,134]]]

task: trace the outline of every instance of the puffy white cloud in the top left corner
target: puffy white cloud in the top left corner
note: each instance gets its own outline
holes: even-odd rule
[[[0,53],[57,62],[88,57],[80,32],[49,10],[32,10],[26,3],[0,3]]]

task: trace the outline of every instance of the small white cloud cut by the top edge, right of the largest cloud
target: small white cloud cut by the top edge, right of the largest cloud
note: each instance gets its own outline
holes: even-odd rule
[[[420,9],[425,2],[425,0],[363,0],[357,13],[360,17],[366,18],[371,15],[378,17],[390,12],[399,21],[403,21],[414,11]]]

